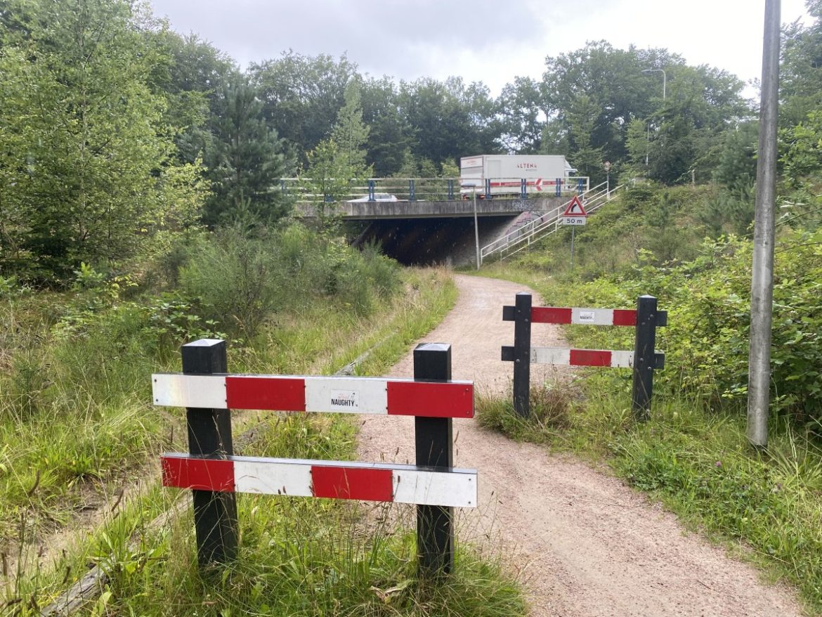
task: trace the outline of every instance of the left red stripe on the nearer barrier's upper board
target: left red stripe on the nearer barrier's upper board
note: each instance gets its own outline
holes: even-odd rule
[[[301,378],[226,377],[229,409],[306,411],[306,383]]]

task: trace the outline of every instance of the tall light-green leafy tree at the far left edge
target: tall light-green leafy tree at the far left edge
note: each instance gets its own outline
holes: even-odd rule
[[[197,165],[178,165],[164,96],[149,86],[156,49],[126,0],[10,0],[2,7],[4,80],[0,151],[13,149],[5,207],[25,227],[4,244],[36,276],[67,274],[81,262],[114,261],[141,239],[192,222]],[[21,63],[25,59],[25,64]],[[25,165],[21,162],[25,161]],[[9,171],[10,170],[10,171]],[[7,258],[4,254],[2,258]],[[23,267],[18,262],[18,267]]]

